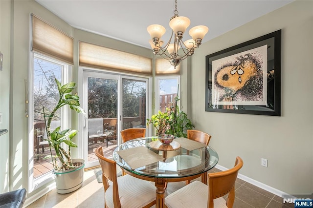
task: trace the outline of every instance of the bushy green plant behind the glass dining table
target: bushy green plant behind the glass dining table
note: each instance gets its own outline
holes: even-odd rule
[[[147,119],[147,125],[152,124],[156,128],[156,135],[171,134],[176,137],[187,137],[187,129],[195,127],[191,120],[188,119],[187,114],[179,111],[177,102],[179,97],[175,97],[175,104],[169,103],[166,112],[158,111],[151,119]]]

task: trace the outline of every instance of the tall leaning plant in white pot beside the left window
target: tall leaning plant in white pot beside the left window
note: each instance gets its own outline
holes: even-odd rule
[[[79,106],[79,97],[70,94],[74,89],[75,83],[70,82],[61,85],[56,78],[55,82],[60,95],[59,101],[50,113],[45,113],[44,108],[46,140],[50,148],[50,155],[46,156],[45,159],[52,158],[54,173],[56,174],[57,192],[69,193],[81,187],[83,183],[85,161],[83,159],[71,158],[71,147],[77,147],[72,139],[78,131],[71,128],[62,130],[61,126],[58,126],[51,132],[50,127],[55,112],[63,106],[68,105],[71,109],[81,114],[85,114],[85,111]],[[56,155],[52,155],[51,148],[55,149]]]

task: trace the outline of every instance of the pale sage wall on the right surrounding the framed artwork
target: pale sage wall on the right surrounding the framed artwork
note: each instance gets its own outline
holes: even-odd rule
[[[218,21],[218,20],[217,20]],[[210,25],[208,25],[209,27]],[[223,25],[221,25],[223,26]],[[205,56],[282,29],[281,117],[205,112]],[[192,121],[212,135],[219,165],[290,194],[313,192],[313,1],[296,0],[225,33],[192,58]],[[261,166],[268,159],[268,167]]]

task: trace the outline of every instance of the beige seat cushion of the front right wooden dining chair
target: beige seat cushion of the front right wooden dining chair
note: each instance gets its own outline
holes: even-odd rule
[[[165,198],[168,208],[207,208],[209,188],[200,181],[194,181]],[[214,199],[214,208],[227,208],[223,197]]]

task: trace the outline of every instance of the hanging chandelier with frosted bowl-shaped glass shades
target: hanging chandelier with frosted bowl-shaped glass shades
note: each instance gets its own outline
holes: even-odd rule
[[[170,19],[172,35],[165,46],[163,46],[164,42],[161,40],[162,35],[165,33],[165,28],[159,24],[151,24],[147,27],[147,31],[152,38],[149,43],[153,49],[153,53],[169,60],[174,68],[176,68],[181,60],[186,59],[188,56],[192,56],[195,53],[195,49],[201,45],[201,41],[204,38],[204,35],[209,31],[209,28],[203,25],[191,28],[189,30],[189,35],[192,39],[183,42],[182,36],[189,25],[190,20],[188,18],[178,15],[177,0],[175,0],[174,16]],[[171,43],[173,35],[174,43]],[[179,48],[182,49],[182,55],[179,55],[178,53]]]

